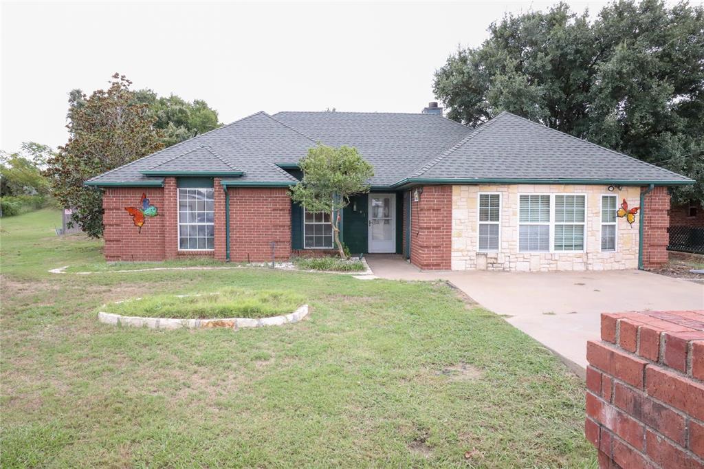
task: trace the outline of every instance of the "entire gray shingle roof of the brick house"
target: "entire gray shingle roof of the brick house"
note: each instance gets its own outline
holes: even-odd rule
[[[211,130],[87,181],[89,185],[161,182],[142,171],[244,173],[237,181],[285,184],[275,163],[296,163],[321,142],[356,147],[372,163],[372,185],[403,180],[622,180],[686,183],[636,160],[510,113],[471,129],[439,115],[264,112]]]

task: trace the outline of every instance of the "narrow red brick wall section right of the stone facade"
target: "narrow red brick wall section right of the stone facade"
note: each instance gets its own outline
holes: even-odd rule
[[[643,189],[645,190],[645,189]],[[645,196],[641,216],[643,217],[643,268],[658,268],[667,263],[667,243],[670,226],[670,194],[667,187],[655,187]]]

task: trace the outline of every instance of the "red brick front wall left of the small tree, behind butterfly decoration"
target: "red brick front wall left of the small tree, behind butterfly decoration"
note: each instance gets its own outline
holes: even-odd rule
[[[178,250],[178,189],[173,177],[162,188],[119,187],[103,195],[105,256],[107,261],[163,261],[182,256],[214,256],[225,261],[225,193],[213,181],[215,196],[215,250],[188,253]],[[138,234],[126,206],[139,206],[142,192],[158,209]],[[230,259],[233,262],[271,260],[276,242],[277,260],[291,256],[291,199],[286,188],[231,188]]]

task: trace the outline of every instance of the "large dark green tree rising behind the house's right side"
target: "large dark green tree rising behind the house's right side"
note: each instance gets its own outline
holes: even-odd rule
[[[522,115],[687,175],[673,202],[704,203],[704,8],[620,0],[591,21],[561,3],[489,34],[436,70],[449,118]]]

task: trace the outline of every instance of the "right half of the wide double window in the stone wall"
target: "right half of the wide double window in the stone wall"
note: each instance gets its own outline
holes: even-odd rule
[[[584,251],[586,197],[555,195],[555,251]]]

